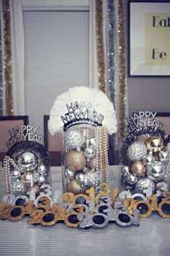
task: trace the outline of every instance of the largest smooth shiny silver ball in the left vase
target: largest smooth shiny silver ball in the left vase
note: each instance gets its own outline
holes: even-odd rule
[[[24,171],[32,171],[37,166],[37,157],[34,153],[25,151],[21,155],[19,155],[18,158],[18,165],[20,168],[22,168]]]

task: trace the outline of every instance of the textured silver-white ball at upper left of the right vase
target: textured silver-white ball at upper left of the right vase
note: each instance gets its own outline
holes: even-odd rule
[[[146,145],[143,144],[143,142],[134,142],[128,148],[127,155],[131,161],[139,161],[140,159],[144,158],[146,153],[147,148]]]

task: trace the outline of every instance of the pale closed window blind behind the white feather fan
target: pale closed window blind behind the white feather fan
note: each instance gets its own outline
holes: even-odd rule
[[[25,109],[40,126],[57,95],[89,86],[89,12],[24,11]]]

